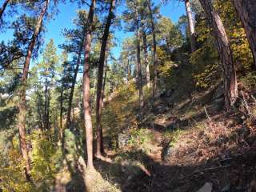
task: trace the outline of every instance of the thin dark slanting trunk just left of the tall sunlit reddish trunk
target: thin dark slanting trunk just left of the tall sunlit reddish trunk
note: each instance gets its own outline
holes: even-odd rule
[[[71,108],[72,108],[72,102],[73,102],[73,96],[74,96],[74,86],[75,86],[75,83],[77,82],[78,70],[79,70],[79,66],[81,64],[81,55],[82,55],[83,43],[84,43],[84,41],[82,40],[82,46],[80,47],[80,50],[79,50],[79,53],[78,53],[78,62],[77,62],[77,65],[74,69],[74,78],[72,80],[72,86],[71,86],[71,90],[70,90],[69,104],[68,104],[67,114],[66,114],[66,128],[67,129],[70,128]]]

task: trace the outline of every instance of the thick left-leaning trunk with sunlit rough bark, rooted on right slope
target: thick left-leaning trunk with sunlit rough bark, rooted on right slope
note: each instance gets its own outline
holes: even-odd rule
[[[230,42],[226,35],[226,30],[223,26],[221,18],[214,10],[211,0],[200,0],[203,10],[205,10],[209,18],[211,26],[213,26],[214,37],[218,46],[218,54],[220,56],[223,68],[223,82],[225,90],[225,106],[229,111],[238,98],[238,85],[236,71],[233,61]]]

